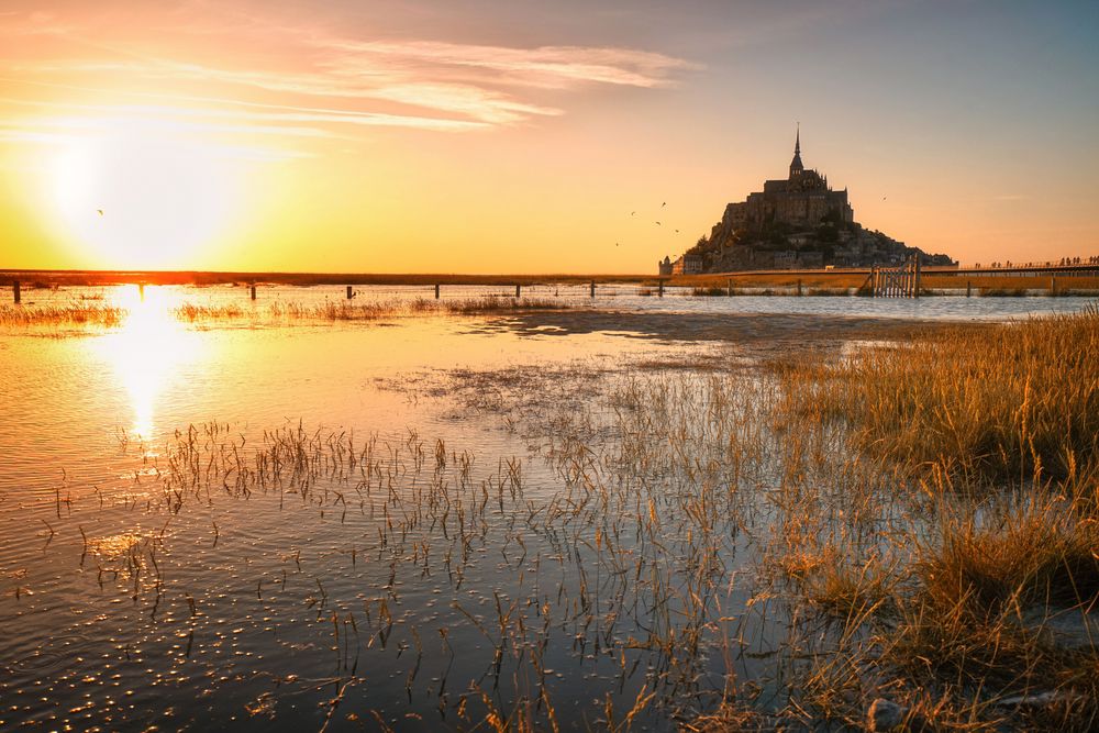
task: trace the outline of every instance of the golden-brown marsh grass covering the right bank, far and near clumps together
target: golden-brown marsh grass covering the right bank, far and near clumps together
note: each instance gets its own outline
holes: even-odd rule
[[[893,481],[875,500],[893,517],[887,542],[836,521],[851,497],[831,515],[795,498],[771,548],[858,660],[815,659],[793,698],[803,715],[858,724],[852,700],[885,691],[935,730],[1094,730],[1097,344],[1088,309],[767,365],[784,425],[837,426],[839,463]],[[1051,621],[1073,618],[1070,633]]]

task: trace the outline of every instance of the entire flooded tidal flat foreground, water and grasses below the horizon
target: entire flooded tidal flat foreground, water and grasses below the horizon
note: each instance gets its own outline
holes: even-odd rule
[[[3,307],[0,728],[1094,726],[1094,307],[585,290]]]

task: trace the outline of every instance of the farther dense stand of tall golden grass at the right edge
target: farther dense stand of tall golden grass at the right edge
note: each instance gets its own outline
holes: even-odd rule
[[[1099,475],[1099,311],[929,333],[786,384],[856,444],[963,479]]]

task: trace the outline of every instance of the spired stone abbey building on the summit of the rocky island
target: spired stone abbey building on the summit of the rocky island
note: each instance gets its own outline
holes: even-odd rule
[[[855,212],[847,203],[847,189],[833,191],[828,176],[807,170],[801,164],[801,130],[793,143],[790,177],[764,181],[763,191],[725,207],[722,223],[734,230],[763,232],[770,224],[814,227],[826,221],[851,223]]]

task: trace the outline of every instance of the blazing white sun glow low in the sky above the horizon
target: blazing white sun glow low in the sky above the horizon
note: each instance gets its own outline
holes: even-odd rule
[[[191,268],[233,212],[233,166],[170,125],[126,121],[54,154],[51,198],[82,259],[116,269]]]

